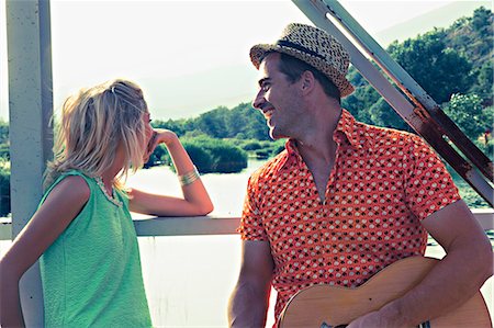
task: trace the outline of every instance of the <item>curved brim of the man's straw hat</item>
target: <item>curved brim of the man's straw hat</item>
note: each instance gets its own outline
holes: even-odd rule
[[[278,44],[258,44],[250,48],[250,61],[257,69],[259,69],[260,63],[265,58],[266,53],[269,52],[283,53],[293,56],[318,69],[338,88],[341,98],[349,95],[355,90],[350,81],[348,81],[344,75],[338,72],[325,60],[311,54],[306,54],[301,50],[291,47],[284,47]]]

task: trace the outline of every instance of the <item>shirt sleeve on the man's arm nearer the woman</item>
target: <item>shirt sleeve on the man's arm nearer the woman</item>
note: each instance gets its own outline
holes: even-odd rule
[[[260,215],[257,179],[249,178],[238,233],[243,240],[268,240]]]

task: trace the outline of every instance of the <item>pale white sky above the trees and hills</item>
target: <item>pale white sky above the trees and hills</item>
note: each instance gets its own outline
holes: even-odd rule
[[[340,3],[381,45],[448,26],[491,1]],[[154,118],[199,115],[248,102],[257,71],[249,48],[274,42],[290,22],[310,20],[289,0],[52,0],[54,106],[79,88],[128,78],[145,92]],[[419,18],[426,18],[420,20]],[[5,9],[0,3],[0,120],[8,120]]]

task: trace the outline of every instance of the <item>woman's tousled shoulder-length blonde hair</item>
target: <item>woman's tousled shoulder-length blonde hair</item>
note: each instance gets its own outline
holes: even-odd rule
[[[124,166],[114,181],[122,188],[120,178],[144,163],[147,146],[143,115],[147,111],[141,88],[121,79],[69,97],[61,109],[54,160],[47,165],[44,186],[74,169],[101,177],[113,165],[119,146],[123,146]]]

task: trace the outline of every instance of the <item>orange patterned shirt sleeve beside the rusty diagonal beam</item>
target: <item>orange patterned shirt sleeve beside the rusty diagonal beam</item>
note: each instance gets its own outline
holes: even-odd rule
[[[441,159],[418,136],[412,136],[404,170],[405,201],[420,220],[461,199]]]

